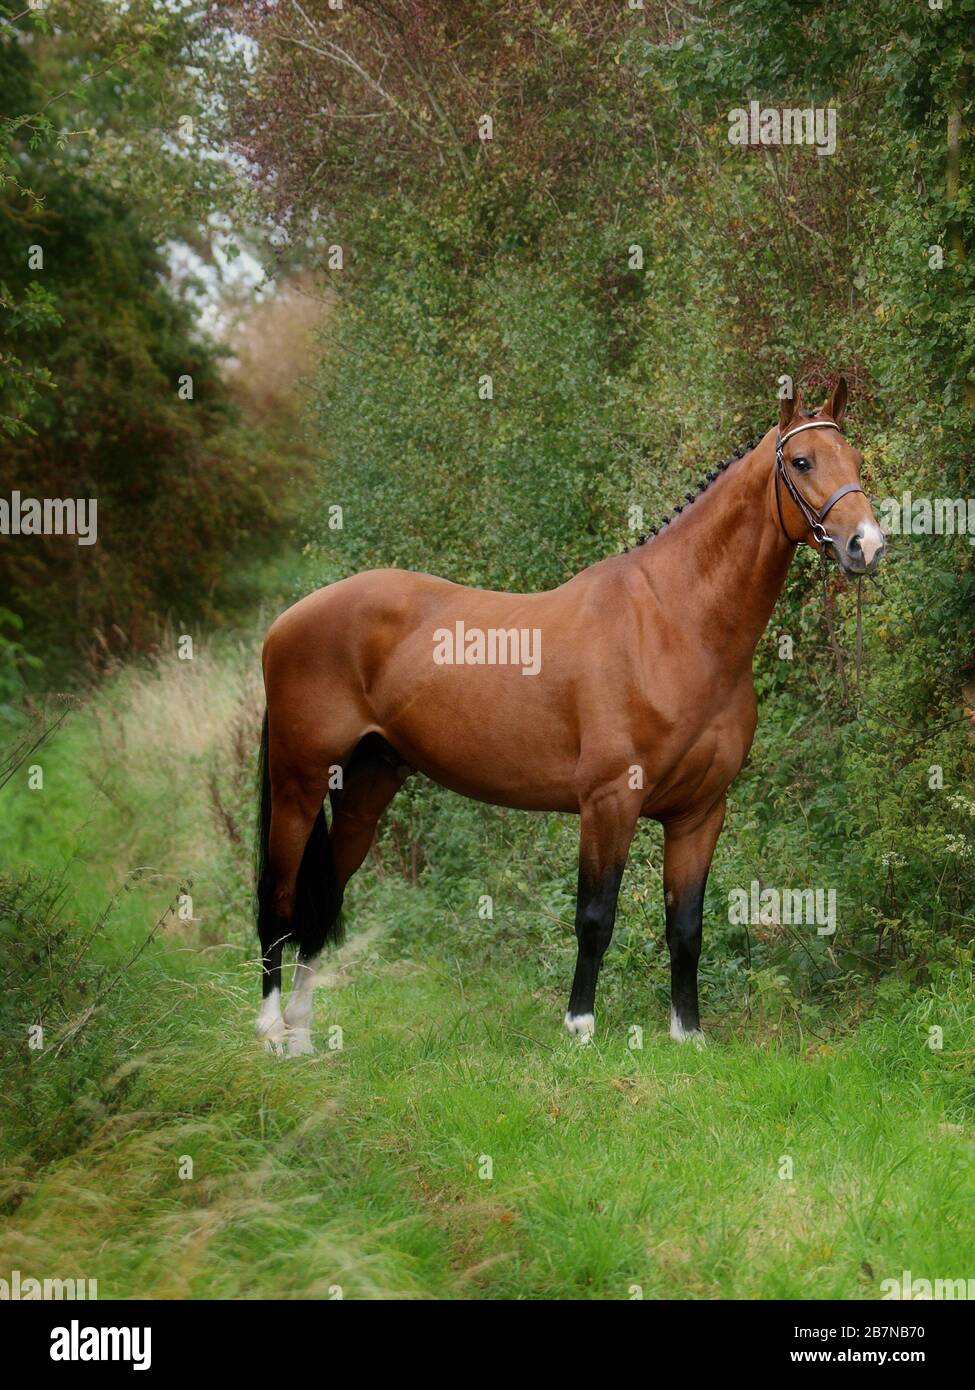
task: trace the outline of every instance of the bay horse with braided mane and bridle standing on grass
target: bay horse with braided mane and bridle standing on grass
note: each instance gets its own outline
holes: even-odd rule
[[[565,1026],[594,1033],[630,841],[663,826],[670,1037],[701,1038],[704,887],[757,721],[752,656],[798,542],[850,575],[885,548],[841,434],[839,379],[702,480],[659,530],[544,594],[370,570],[317,589],[263,649],[257,930],[268,1047],[312,1051],[319,954],[409,773],[477,801],[580,817]],[[825,520],[829,517],[829,531]],[[324,802],[331,802],[331,826]],[[281,954],[298,949],[281,1012]]]

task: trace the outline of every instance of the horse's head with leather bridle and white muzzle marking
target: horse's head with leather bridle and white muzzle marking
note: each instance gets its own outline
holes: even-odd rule
[[[782,402],[775,506],[790,541],[825,546],[847,574],[873,574],[883,531],[860,485],[862,456],[840,432],[846,403],[843,377],[819,410],[804,410],[798,393]]]

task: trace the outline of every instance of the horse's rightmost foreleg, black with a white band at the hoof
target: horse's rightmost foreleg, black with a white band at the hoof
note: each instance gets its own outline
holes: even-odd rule
[[[725,823],[725,798],[693,819],[663,827],[663,902],[670,949],[670,1037],[704,1041],[697,1004],[704,885]]]

